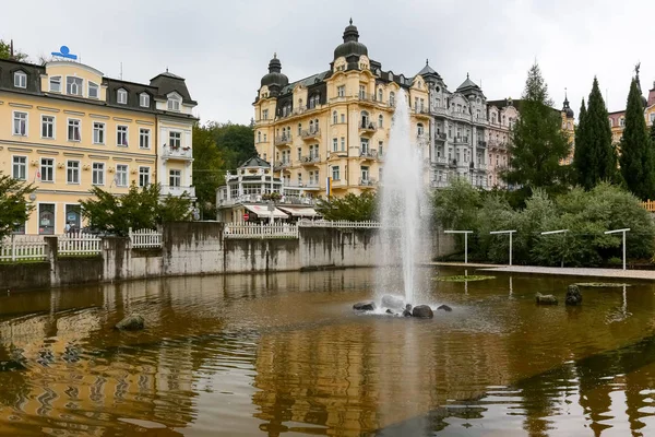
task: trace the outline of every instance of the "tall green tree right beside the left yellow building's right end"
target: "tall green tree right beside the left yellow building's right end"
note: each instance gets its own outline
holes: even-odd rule
[[[211,127],[193,126],[193,186],[204,217],[216,215],[216,189],[225,182],[225,161]]]

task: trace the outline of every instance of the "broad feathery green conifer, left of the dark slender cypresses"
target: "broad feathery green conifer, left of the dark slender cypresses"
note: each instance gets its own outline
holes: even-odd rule
[[[528,73],[521,103],[521,117],[512,129],[509,146],[510,165],[503,173],[508,184],[528,197],[536,188],[548,193],[565,190],[568,168],[560,165],[570,153],[561,129],[561,115],[552,109],[548,86],[538,64]]]

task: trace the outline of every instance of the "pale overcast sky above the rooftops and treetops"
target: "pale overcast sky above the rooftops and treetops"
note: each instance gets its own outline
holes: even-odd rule
[[[450,90],[469,72],[489,99],[519,98],[535,59],[556,106],[568,87],[576,116],[594,75],[610,111],[638,61],[644,94],[655,80],[652,0],[8,1],[0,38],[33,59],[68,45],[114,78],[122,62],[133,82],[168,67],[203,122],[248,122],[273,52],[289,81],[324,71],[350,16],[384,70],[414,75],[429,58]]]

